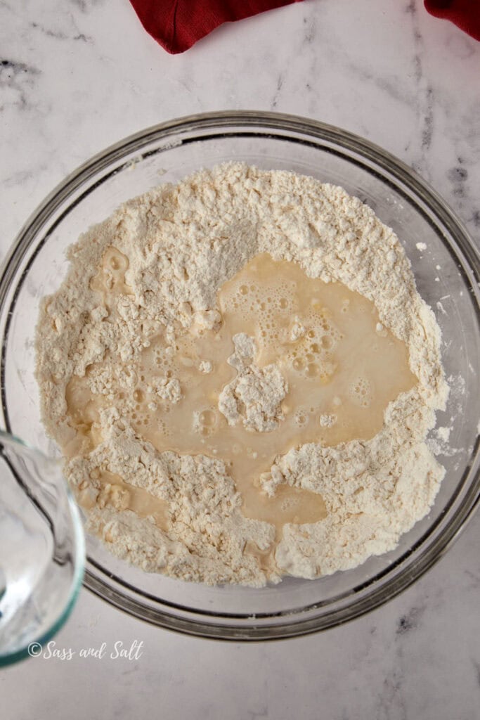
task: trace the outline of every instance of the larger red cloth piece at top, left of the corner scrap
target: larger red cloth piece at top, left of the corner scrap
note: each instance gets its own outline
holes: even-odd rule
[[[130,0],[145,30],[168,53],[184,53],[224,22],[302,0]]]

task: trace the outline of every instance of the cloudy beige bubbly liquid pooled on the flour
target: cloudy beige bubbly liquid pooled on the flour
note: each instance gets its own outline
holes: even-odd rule
[[[110,312],[114,296],[130,292],[127,267],[127,257],[111,247],[91,281]],[[242,495],[244,515],[272,523],[279,539],[284,523],[314,523],[326,510],[309,490],[281,485],[273,498],[261,492],[261,474],[275,457],[308,442],[333,446],[373,437],[386,405],[416,378],[404,343],[381,325],[372,302],[343,284],[309,278],[297,264],[256,256],[223,285],[217,300],[213,324],[194,322],[188,330],[178,325],[174,339],[159,323],[145,325],[150,345],[123,368],[133,374],[132,390],[122,384],[121,372],[112,372],[119,361],[110,356],[89,366],[86,377],[73,377],[66,400],[77,436],[64,450],[72,456],[80,446],[99,444],[99,410],[113,405],[158,451],[222,459]],[[231,425],[219,410],[222,390],[237,375],[228,360],[240,333],[255,343],[255,356],[245,362],[260,370],[275,364],[288,387],[276,427],[268,432]],[[104,370],[112,377],[108,396],[89,387],[89,377]],[[106,503],[149,513],[148,492],[117,476],[100,480],[108,486]],[[166,527],[166,503],[153,504],[155,521]],[[259,562],[268,564],[268,557]]]

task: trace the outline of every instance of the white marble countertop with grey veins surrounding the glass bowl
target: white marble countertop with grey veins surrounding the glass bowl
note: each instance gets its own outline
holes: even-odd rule
[[[275,109],[370,138],[429,180],[479,240],[480,43],[421,0],[306,0],[224,26],[184,55],[127,0],[0,0],[2,255],[92,153],[213,109]],[[0,673],[15,720],[471,720],[480,717],[480,517],[420,582],[339,629],[220,644],[135,621],[83,590],[58,647]],[[78,657],[143,642],[137,660]]]

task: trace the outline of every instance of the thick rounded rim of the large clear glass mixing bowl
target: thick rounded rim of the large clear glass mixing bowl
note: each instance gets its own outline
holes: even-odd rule
[[[132,154],[135,150],[141,150],[142,147],[148,145],[148,143],[155,140],[166,140],[166,144],[163,145],[163,150],[175,147],[181,144],[181,140],[173,140],[168,143],[168,138],[175,137],[178,133],[189,132],[192,130],[214,130],[217,135],[219,130],[227,130],[227,128],[245,128],[245,132],[252,134],[253,127],[261,129],[261,134],[265,135],[266,130],[278,131],[278,132],[296,132],[299,135],[306,135],[312,140],[322,140],[327,143],[332,143],[342,150],[352,151],[360,155],[365,163],[365,167],[368,167],[368,163],[373,163],[374,166],[388,172],[389,176],[398,181],[402,186],[406,186],[410,192],[415,195],[417,200],[420,200],[435,215],[435,219],[440,222],[443,227],[448,230],[453,243],[448,242],[448,249],[453,250],[456,258],[461,261],[461,271],[466,278],[468,278],[468,284],[471,286],[472,295],[476,298],[476,316],[477,320],[480,321],[480,292],[479,292],[479,280],[480,280],[480,251],[474,245],[471,240],[468,231],[466,230],[463,222],[459,220],[453,210],[450,209],[448,204],[440,197],[440,195],[423,180],[412,168],[409,168],[405,163],[400,161],[395,156],[391,155],[388,151],[371,143],[370,140],[361,138],[359,135],[355,135],[346,130],[342,130],[333,125],[327,125],[323,122],[312,120],[306,117],[299,117],[291,114],[280,114],[274,112],[261,112],[255,110],[235,110],[235,111],[222,111],[222,112],[207,112],[200,114],[193,114],[184,117],[179,117],[174,120],[168,120],[166,122],[160,122],[157,125],[152,125],[135,132],[132,135],[128,135],[126,138],[119,140],[117,143],[109,145],[109,147],[96,153],[93,157],[78,166],[71,174],[69,174],[63,181],[61,181],[55,188],[47,194],[47,197],[40,203],[40,205],[32,212],[30,217],[24,223],[22,228],[17,234],[17,238],[14,240],[9,252],[6,254],[4,262],[1,268],[0,274],[0,310],[4,309],[5,300],[8,291],[12,284],[17,270],[19,269],[22,260],[30,248],[32,240],[37,235],[37,231],[47,220],[52,217],[58,207],[60,207],[68,197],[76,192],[83,186],[83,183],[90,180],[93,176],[101,171],[106,171],[111,168],[114,163],[118,163]],[[207,136],[202,135],[201,138]],[[308,143],[307,143],[308,144]],[[141,154],[142,159],[148,155]],[[352,158],[350,158],[351,160]],[[125,166],[131,165],[132,161],[127,161],[124,165],[118,166],[115,164],[112,173],[117,173]],[[370,168],[371,169],[371,168]],[[107,174],[109,176],[109,174]],[[104,178],[105,179],[105,178]],[[395,185],[397,192],[402,192],[402,187]],[[82,196],[81,196],[82,197]],[[418,208],[421,209],[420,207]],[[424,212],[424,216],[426,213]],[[61,217],[61,216],[60,216]],[[39,248],[38,248],[39,249]],[[34,255],[35,257],[35,255]],[[30,258],[31,262],[33,259]],[[18,290],[16,290],[18,292]],[[8,320],[7,320],[8,322]],[[4,411],[4,418],[6,422],[7,431],[11,431],[9,427],[8,413],[6,413],[6,399],[5,399],[5,387],[4,387],[4,370],[5,370],[5,347],[6,340],[8,337],[8,326],[6,327],[6,333],[4,343],[1,351],[1,362],[0,362],[0,373],[1,373],[1,400]],[[325,613],[322,616],[313,618],[300,618],[291,622],[283,624],[263,624],[261,618],[263,615],[257,616],[245,615],[240,616],[245,619],[245,624],[236,625],[232,623],[219,624],[214,623],[210,618],[210,613],[205,611],[196,611],[194,608],[181,608],[176,606],[175,603],[166,603],[163,607],[153,608],[137,598],[132,598],[130,595],[122,593],[118,587],[112,587],[112,584],[108,584],[101,580],[95,572],[89,570],[86,567],[83,584],[86,588],[89,588],[93,593],[99,595],[104,600],[107,600],[113,606],[130,613],[137,618],[148,621],[150,624],[161,626],[165,629],[171,629],[179,631],[184,634],[191,634],[195,636],[202,636],[215,639],[225,640],[245,640],[245,641],[256,641],[258,640],[272,640],[281,639],[286,637],[300,636],[309,634],[312,632],[320,631],[323,629],[330,628],[344,624],[347,621],[353,620],[363,614],[372,611],[379,607],[383,603],[391,600],[396,595],[407,589],[409,585],[412,585],[418,578],[420,578],[433,564],[443,556],[448,548],[453,544],[453,541],[458,537],[461,529],[466,525],[467,521],[474,515],[476,506],[479,505],[480,499],[480,438],[476,438],[476,446],[472,452],[472,462],[466,467],[463,472],[461,481],[458,482],[456,494],[453,498],[450,498],[450,502],[447,505],[447,509],[451,508],[454,500],[458,498],[458,494],[464,487],[467,480],[467,476],[474,473],[471,479],[471,485],[468,487],[468,492],[464,495],[461,500],[461,505],[456,508],[453,516],[449,519],[445,528],[443,528],[440,536],[435,538],[433,544],[430,544],[427,548],[423,548],[422,554],[418,557],[412,557],[415,555],[427,539],[433,534],[435,528],[442,521],[443,516],[440,516],[435,523],[433,523],[421,538],[415,543],[413,548],[404,552],[399,559],[391,564],[386,570],[383,570],[368,580],[368,582],[362,584],[367,588],[373,586],[380,577],[391,572],[392,569],[398,568],[404,564],[407,558],[411,558],[411,562],[406,563],[406,567],[400,569],[398,574],[391,577],[386,584],[381,587],[373,589],[366,595],[353,600],[352,603],[347,604],[345,607],[340,609],[333,609],[330,613]],[[460,488],[460,489],[458,489]],[[96,562],[89,559],[89,564],[93,567],[98,568],[105,574],[105,570]],[[124,588],[128,588],[128,583],[119,580],[111,572],[107,572],[111,581],[118,581],[119,585]],[[130,586],[131,587],[131,586]],[[146,593],[142,593],[136,588],[132,588],[134,592],[140,595],[147,596]],[[344,593],[350,597],[355,595],[357,588],[348,593]],[[156,598],[158,601],[158,598]],[[332,603],[338,598],[330,600]],[[318,605],[318,603],[317,603]],[[299,611],[305,611],[314,609],[317,605],[311,605],[307,608],[300,608]],[[177,610],[187,611],[191,617],[181,617],[178,614],[170,611],[165,611],[163,608],[175,607]],[[265,613],[267,617],[278,617],[280,616],[295,616],[294,610],[285,611],[282,613]],[[228,620],[238,618],[238,615],[229,613],[220,614],[214,613],[214,617],[225,618]],[[207,619],[205,619],[207,618]]]

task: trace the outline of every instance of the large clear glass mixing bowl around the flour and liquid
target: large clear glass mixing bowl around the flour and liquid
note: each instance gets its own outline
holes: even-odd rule
[[[338,128],[261,112],[184,117],[112,145],[45,199],[6,259],[0,281],[1,420],[30,444],[57,452],[40,423],[33,343],[39,300],[65,276],[65,248],[128,198],[232,160],[339,184],[395,230],[442,329],[452,388],[448,408],[438,413],[438,426],[453,426],[449,441],[432,438],[447,470],[435,505],[397,549],[354,570],[318,580],[286,577],[261,589],[212,588],[149,575],[87,537],[84,583],[117,608],[198,636],[275,639],[341,624],[397,595],[445,552],[479,499],[479,254],[445,202],[407,166]]]

